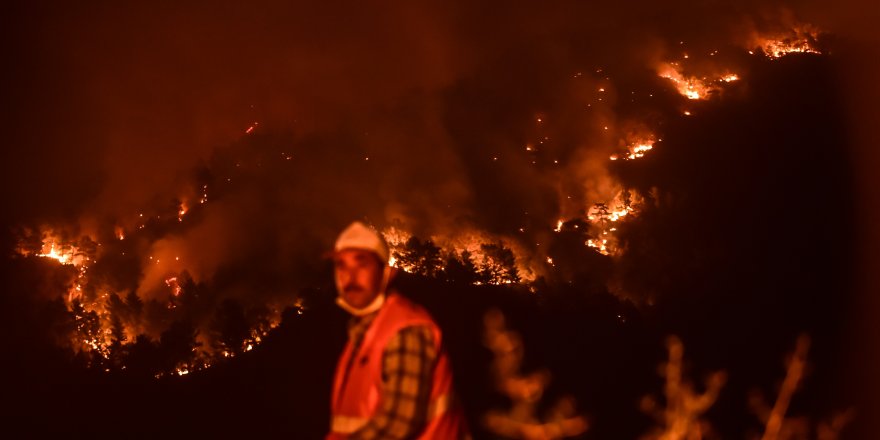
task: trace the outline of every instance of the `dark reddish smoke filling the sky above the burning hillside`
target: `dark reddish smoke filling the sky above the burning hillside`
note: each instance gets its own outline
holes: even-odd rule
[[[11,221],[75,218],[107,240],[114,228],[152,231],[129,249],[142,267],[124,283],[148,298],[182,271],[237,277],[224,281],[237,296],[289,294],[317,278],[321,252],[353,219],[531,249],[557,219],[620,191],[609,155],[660,130],[674,107],[659,62],[741,44],[781,10],[19,8],[7,31],[21,85],[22,147],[4,160],[15,188],[4,200],[20,208]],[[181,203],[190,211],[175,222]]]

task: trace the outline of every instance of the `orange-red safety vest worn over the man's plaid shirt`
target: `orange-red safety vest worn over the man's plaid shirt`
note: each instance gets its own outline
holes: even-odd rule
[[[327,439],[345,439],[367,424],[382,401],[382,358],[388,341],[401,329],[423,325],[434,335],[434,347],[439,353],[431,382],[426,425],[418,439],[454,440],[466,431],[460,407],[453,405],[452,370],[449,357],[441,348],[441,332],[434,320],[422,307],[399,294],[392,293],[379,314],[364,334],[356,353],[348,341],[336,366],[333,384],[330,433]],[[347,373],[351,356],[356,356]]]

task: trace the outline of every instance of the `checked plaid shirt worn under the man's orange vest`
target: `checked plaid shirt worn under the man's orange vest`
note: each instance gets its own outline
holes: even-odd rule
[[[349,321],[348,337],[355,350],[377,314],[352,317]],[[433,339],[430,328],[412,326],[401,329],[388,341],[382,358],[381,406],[349,439],[405,439],[418,434],[426,422],[437,360]],[[351,369],[354,358],[351,357],[347,369]]]

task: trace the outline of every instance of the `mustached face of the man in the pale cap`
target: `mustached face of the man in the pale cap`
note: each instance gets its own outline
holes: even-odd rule
[[[336,291],[350,306],[362,309],[376,299],[382,283],[382,263],[370,251],[345,249],[333,257]]]

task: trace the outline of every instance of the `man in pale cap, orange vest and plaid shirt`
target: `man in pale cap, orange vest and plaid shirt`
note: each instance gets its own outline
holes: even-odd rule
[[[336,302],[352,318],[336,367],[327,439],[464,438],[440,328],[423,308],[388,289],[388,257],[385,240],[359,222],[336,240]]]

